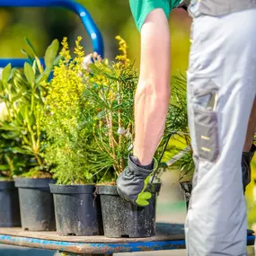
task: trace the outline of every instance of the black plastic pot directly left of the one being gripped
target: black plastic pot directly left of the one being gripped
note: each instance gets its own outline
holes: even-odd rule
[[[99,197],[95,197],[94,185],[53,185],[57,234],[103,234]]]

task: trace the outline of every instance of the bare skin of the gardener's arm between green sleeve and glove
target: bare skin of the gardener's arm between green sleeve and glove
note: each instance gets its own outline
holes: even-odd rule
[[[162,9],[150,13],[141,30],[141,66],[135,97],[134,155],[152,163],[163,135],[170,101],[170,32]]]

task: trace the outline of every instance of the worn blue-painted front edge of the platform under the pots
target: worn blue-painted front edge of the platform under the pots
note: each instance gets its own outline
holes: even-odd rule
[[[77,254],[110,254],[117,252],[146,252],[185,248],[185,240],[139,243],[69,243],[0,234],[0,243]]]

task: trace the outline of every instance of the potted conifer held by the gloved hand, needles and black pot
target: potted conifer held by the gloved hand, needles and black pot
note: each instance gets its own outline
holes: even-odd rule
[[[88,119],[93,123],[94,143],[88,148],[89,168],[97,173],[97,194],[102,203],[104,234],[108,237],[154,235],[155,204],[159,184],[148,187],[153,194],[146,207],[136,207],[119,197],[116,179],[128,162],[134,137],[134,94],[137,70],[130,63],[127,45],[119,40],[117,62],[95,61],[89,66],[84,97]]]

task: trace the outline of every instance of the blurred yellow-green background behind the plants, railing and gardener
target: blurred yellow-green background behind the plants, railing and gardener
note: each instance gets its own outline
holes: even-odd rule
[[[18,1],[17,1],[18,2]],[[80,0],[92,14],[98,25],[105,44],[105,57],[113,60],[118,52],[116,35],[128,42],[129,57],[139,66],[139,33],[133,22],[128,1],[123,0]],[[23,57],[21,49],[25,47],[24,37],[33,43],[38,55],[53,39],[68,41],[74,46],[75,38],[81,35],[87,54],[92,52],[92,44],[84,30],[80,18],[70,11],[59,8],[0,8],[0,57]],[[172,36],[172,75],[184,72],[188,66],[190,51],[190,17],[183,10],[174,10],[170,17]],[[177,177],[178,179],[178,177]],[[253,196],[256,180],[256,162],[252,169],[252,183],[246,196],[248,205],[248,224],[256,223],[256,192]]]

